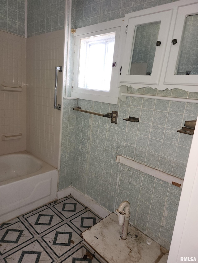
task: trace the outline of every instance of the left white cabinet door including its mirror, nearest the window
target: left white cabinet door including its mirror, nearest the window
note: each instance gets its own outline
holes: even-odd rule
[[[171,14],[172,10],[139,17],[126,15],[127,36],[121,83],[159,83]]]

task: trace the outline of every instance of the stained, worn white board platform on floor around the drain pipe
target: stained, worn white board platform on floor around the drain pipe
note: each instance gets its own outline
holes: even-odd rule
[[[153,263],[166,262],[163,254],[168,251],[152,240],[147,244],[148,236],[129,224],[126,240],[120,235],[122,227],[118,225],[118,216],[111,213],[103,220],[82,233],[85,244],[95,250],[109,263]]]

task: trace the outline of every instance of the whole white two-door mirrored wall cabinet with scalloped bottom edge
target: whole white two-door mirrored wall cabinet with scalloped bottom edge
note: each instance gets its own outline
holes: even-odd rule
[[[126,14],[125,26],[120,85],[198,92],[198,1]]]

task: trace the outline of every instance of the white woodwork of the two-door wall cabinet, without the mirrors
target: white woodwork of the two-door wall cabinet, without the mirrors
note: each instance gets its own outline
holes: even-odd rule
[[[152,20],[149,15],[154,17],[161,14],[159,20],[163,22],[163,12],[167,12],[167,14],[171,12],[171,18],[169,16],[165,17],[168,34],[166,28],[164,31],[163,27],[162,38],[160,35],[162,27],[160,28],[158,40],[161,41],[163,36],[166,39],[164,42],[161,41],[161,46],[156,48],[152,74],[150,76],[128,75],[135,26],[149,23]],[[198,0],[180,0],[126,14],[125,26],[128,25],[128,32],[125,47],[122,49],[123,63],[119,86],[124,84],[136,89],[151,87],[159,90],[178,88],[189,92],[198,92],[198,75],[174,75],[185,18],[190,14],[198,14]],[[163,24],[162,22],[161,24]],[[171,43],[173,39],[177,39],[178,43],[173,45]],[[160,54],[158,51],[160,51]]]

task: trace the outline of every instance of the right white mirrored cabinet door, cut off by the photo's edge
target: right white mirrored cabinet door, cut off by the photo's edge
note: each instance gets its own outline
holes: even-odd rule
[[[198,85],[198,3],[178,9],[164,83]]]

